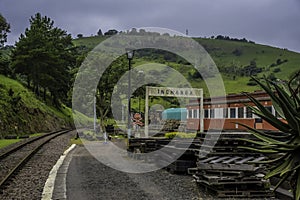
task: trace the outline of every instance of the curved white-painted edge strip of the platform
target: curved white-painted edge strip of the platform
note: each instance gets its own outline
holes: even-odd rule
[[[53,191],[54,191],[54,186],[55,186],[55,180],[56,180],[56,176],[58,173],[58,170],[60,169],[60,167],[62,166],[65,158],[67,157],[68,153],[70,153],[70,151],[72,151],[75,148],[76,144],[72,144],[61,156],[60,158],[57,160],[56,164],[53,166],[53,168],[51,169],[48,179],[45,183],[44,189],[43,189],[43,193],[42,193],[42,200],[49,200],[52,199],[52,195],[53,195]],[[66,198],[66,191],[64,191],[63,198]]]

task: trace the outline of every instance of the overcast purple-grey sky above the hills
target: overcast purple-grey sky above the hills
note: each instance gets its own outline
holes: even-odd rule
[[[99,29],[162,27],[190,36],[228,35],[300,52],[300,0],[0,0],[14,44],[40,12],[73,37]]]

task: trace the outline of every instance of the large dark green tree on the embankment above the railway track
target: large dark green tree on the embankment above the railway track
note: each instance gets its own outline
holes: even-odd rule
[[[69,90],[69,69],[75,64],[72,38],[66,31],[54,27],[54,21],[37,13],[30,18],[30,27],[21,34],[12,52],[15,73],[27,79],[28,87],[39,96],[43,89],[51,93],[53,103],[66,98]]]

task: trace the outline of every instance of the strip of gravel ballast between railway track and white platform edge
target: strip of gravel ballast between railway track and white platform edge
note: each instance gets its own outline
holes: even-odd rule
[[[0,199],[41,199],[49,172],[74,136],[74,131],[69,132],[45,144],[1,191]]]

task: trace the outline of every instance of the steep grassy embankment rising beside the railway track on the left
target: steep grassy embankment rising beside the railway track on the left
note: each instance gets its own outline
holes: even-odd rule
[[[72,126],[71,109],[49,107],[19,82],[0,75],[0,138]]]

